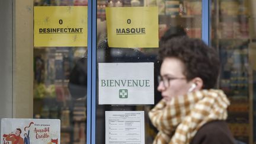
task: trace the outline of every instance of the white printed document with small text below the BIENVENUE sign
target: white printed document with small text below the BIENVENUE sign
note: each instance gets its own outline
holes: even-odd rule
[[[144,111],[105,111],[106,144],[144,144]]]

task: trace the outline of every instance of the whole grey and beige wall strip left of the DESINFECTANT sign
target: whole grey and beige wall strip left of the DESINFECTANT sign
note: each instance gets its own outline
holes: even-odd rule
[[[0,0],[0,119],[5,117],[33,117],[33,0]]]

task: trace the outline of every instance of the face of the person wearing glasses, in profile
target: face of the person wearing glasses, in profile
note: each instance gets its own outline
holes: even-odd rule
[[[158,91],[166,102],[171,98],[187,94],[191,82],[187,82],[184,72],[184,63],[175,57],[167,57],[161,65],[160,75],[162,80],[158,85]]]

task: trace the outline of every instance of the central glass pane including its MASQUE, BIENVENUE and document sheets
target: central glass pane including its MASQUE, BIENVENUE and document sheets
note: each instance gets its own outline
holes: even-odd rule
[[[97,1],[95,143],[152,143],[159,40],[201,39],[201,1]],[[92,118],[92,121],[94,119]],[[92,124],[93,126],[93,124]],[[92,127],[92,129],[94,129]]]

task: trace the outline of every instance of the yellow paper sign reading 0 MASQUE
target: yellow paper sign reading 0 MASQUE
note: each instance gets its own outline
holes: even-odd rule
[[[158,47],[157,7],[106,8],[110,47]]]

